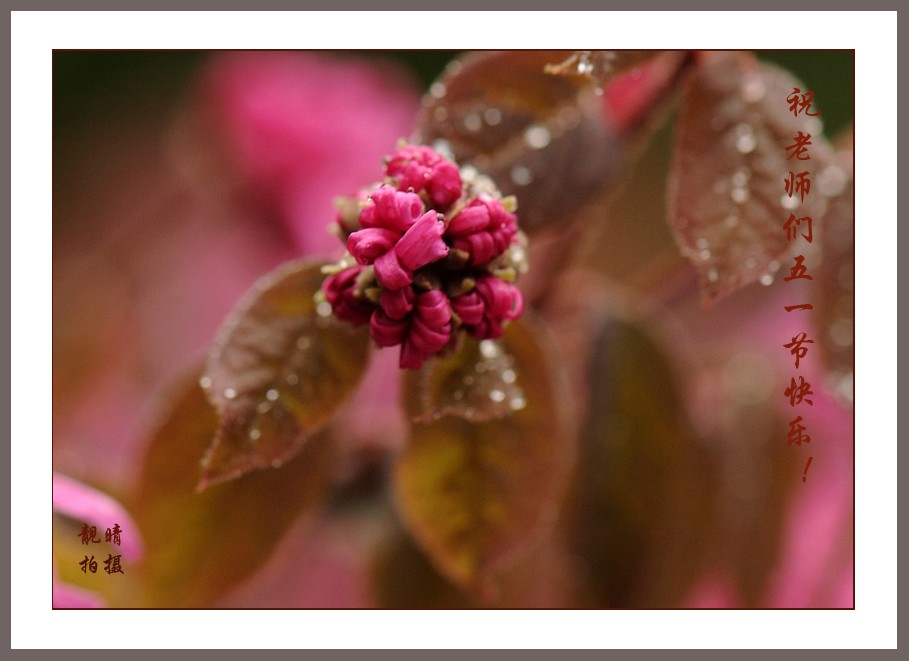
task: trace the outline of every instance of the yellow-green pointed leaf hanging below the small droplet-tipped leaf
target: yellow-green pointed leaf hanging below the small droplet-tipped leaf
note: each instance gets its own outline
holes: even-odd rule
[[[551,522],[571,457],[564,384],[544,337],[526,320],[505,333],[523,408],[483,422],[414,422],[394,469],[408,530],[442,574],[485,599],[495,594],[496,570]],[[408,413],[421,414],[419,380],[405,387]]]

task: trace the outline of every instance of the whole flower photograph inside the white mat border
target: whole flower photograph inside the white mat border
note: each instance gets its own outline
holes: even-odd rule
[[[853,55],[55,51],[53,607],[853,608]]]

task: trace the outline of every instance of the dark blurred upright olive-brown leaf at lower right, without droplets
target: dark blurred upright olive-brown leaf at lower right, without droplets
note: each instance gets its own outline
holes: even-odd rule
[[[678,605],[711,526],[711,465],[663,349],[607,317],[589,358],[589,403],[568,539],[598,606]]]

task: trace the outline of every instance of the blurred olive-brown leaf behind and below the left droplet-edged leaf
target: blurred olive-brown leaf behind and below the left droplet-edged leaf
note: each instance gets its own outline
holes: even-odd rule
[[[146,549],[143,606],[211,606],[264,563],[328,489],[333,449],[322,432],[278,470],[197,493],[199,457],[217,424],[193,379],[176,389],[151,435],[131,508]]]

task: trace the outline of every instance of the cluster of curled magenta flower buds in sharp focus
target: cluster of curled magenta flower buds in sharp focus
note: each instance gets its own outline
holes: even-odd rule
[[[513,284],[526,270],[514,198],[461,172],[424,146],[386,163],[385,182],[339,203],[348,255],[328,269],[322,293],[340,319],[369,324],[381,347],[401,346],[416,369],[456,341],[501,337],[523,300]]]

